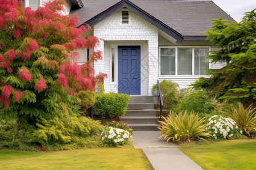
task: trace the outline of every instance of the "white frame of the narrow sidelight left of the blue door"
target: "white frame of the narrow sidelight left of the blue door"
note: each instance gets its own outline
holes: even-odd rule
[[[112,82],[112,49],[114,49],[114,82]],[[109,50],[109,84],[117,84],[117,45],[110,45]]]

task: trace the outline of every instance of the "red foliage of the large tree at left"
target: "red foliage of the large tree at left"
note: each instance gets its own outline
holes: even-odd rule
[[[1,56],[2,52],[0,54],[0,68],[6,69],[9,74],[14,76],[18,75],[23,82],[33,82],[32,75],[28,70],[32,64],[35,66],[38,61],[38,63],[48,66],[42,69],[42,65],[36,65],[40,76],[51,72],[54,83],[47,82],[48,86],[55,86],[56,76],[52,74],[57,74],[57,70],[59,70],[57,82],[68,91],[68,94],[76,95],[81,90],[94,91],[96,84],[106,77],[106,74],[102,73],[95,76],[92,65],[92,62],[102,59],[102,53],[93,51],[88,62],[78,65],[77,60],[80,55],[71,51],[94,48],[98,45],[99,39],[93,36],[83,38],[82,35],[85,35],[86,27],[77,28],[76,15],[61,15],[59,11],[63,10],[63,5],[65,5],[64,0],[55,0],[45,3],[44,7],[33,11],[30,7],[23,8],[22,2],[0,0],[0,29],[2,32],[6,32],[6,41],[0,42],[0,50],[5,53],[3,56]],[[24,66],[19,61],[20,58],[23,60]],[[14,62],[16,62],[15,65]],[[5,73],[3,72],[3,74]],[[37,71],[34,74],[37,74]],[[35,78],[39,77],[34,76]],[[3,82],[10,83],[5,80]],[[8,108],[9,100],[17,102],[24,94],[20,92],[20,89],[15,90],[14,88],[13,90],[5,84],[1,83],[0,101],[3,101],[5,108]],[[32,83],[30,84],[33,86]],[[39,92],[45,90],[47,88],[46,80],[40,78],[35,82],[34,88]],[[24,90],[27,89],[24,88]],[[10,97],[12,94],[13,96]]]

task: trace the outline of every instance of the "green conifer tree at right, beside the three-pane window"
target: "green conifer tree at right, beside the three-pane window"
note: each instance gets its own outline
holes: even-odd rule
[[[208,57],[212,63],[225,62],[221,69],[209,69],[210,78],[200,78],[193,84],[204,88],[218,100],[237,102],[245,107],[256,106],[256,9],[246,12],[240,23],[212,19],[207,39],[220,50]]]

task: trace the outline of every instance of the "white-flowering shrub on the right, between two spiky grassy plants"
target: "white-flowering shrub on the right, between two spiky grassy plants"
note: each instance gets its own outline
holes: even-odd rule
[[[214,139],[233,139],[234,136],[237,138],[239,133],[242,134],[242,130],[238,128],[232,118],[225,118],[220,115],[210,117],[206,129]]]

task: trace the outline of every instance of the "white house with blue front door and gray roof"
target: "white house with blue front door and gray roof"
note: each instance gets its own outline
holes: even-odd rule
[[[94,50],[101,50],[103,59],[94,63],[94,69],[96,74],[108,74],[106,92],[151,96],[158,79],[186,88],[200,76],[208,76],[205,69],[222,67],[205,58],[210,50],[217,50],[204,36],[212,25],[208,19],[228,15],[212,1],[67,2],[70,13],[79,16],[79,25],[90,26],[86,36],[102,39]],[[230,16],[225,19],[234,21]],[[79,63],[86,62],[92,51],[79,50]]]

